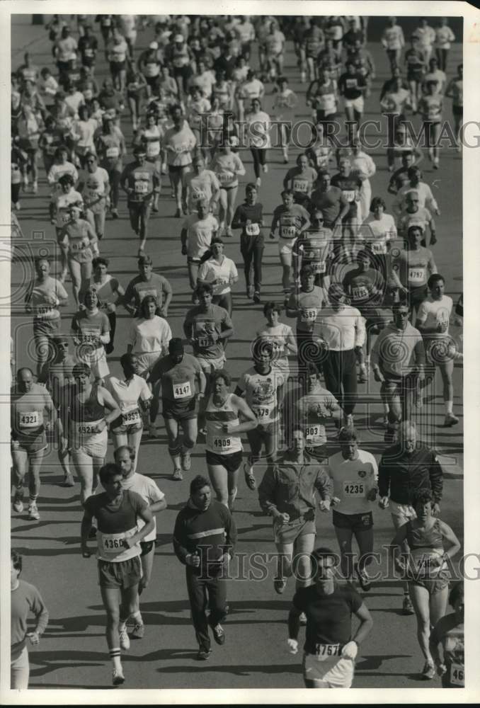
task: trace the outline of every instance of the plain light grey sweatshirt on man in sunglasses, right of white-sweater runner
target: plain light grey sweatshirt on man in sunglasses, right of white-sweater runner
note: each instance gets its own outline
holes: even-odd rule
[[[409,322],[399,329],[389,322],[379,333],[372,348],[372,365],[378,365],[389,378],[406,376],[416,367],[425,364],[423,338]]]

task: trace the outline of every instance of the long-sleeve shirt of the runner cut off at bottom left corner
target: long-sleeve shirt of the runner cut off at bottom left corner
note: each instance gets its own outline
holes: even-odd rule
[[[11,593],[11,659],[19,656],[27,639],[27,619],[32,612],[37,618],[35,632],[43,634],[48,624],[48,610],[42,595],[35,586],[18,581],[18,588]]]

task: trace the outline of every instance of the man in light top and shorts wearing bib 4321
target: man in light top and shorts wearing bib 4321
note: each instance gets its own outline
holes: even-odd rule
[[[45,414],[48,420],[44,421]],[[45,432],[55,427],[55,407],[45,386],[33,382],[33,373],[28,368],[19,369],[16,387],[11,390],[11,457],[15,479],[13,510],[23,511],[23,479],[29,474],[28,518],[38,521],[40,514],[37,499],[40,494],[40,467],[47,450]],[[62,436],[62,423],[57,421],[59,436]]]

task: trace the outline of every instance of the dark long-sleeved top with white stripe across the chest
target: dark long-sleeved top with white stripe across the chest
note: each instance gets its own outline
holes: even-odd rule
[[[212,500],[203,511],[188,501],[176,518],[173,530],[173,549],[181,563],[186,556],[198,553],[202,569],[215,569],[224,553],[234,554],[236,526],[232,514],[224,504]]]

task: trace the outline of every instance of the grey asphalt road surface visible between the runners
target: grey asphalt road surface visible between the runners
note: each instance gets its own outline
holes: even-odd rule
[[[139,32],[137,52],[152,39],[151,28]],[[24,24],[14,24],[12,29],[12,67],[21,64],[26,49],[33,53],[38,66],[51,65],[50,42],[45,29]],[[100,45],[103,43],[100,40]],[[372,96],[366,101],[365,118],[379,120],[379,88],[388,77],[386,57],[379,44],[367,47],[377,64],[377,78]],[[105,63],[99,52],[97,76],[106,74]],[[253,51],[253,66],[256,65]],[[461,61],[461,45],[455,44],[450,53],[449,78]],[[291,88],[299,95],[297,118],[310,118],[304,105],[306,86],[299,83],[292,44],[288,43],[285,72]],[[272,105],[273,94],[268,84],[264,110]],[[450,101],[445,113],[450,117]],[[414,119],[418,120],[418,119]],[[384,124],[382,133],[384,135]],[[127,115],[122,119],[122,130],[131,144],[132,130]],[[298,154],[291,150],[291,166]],[[387,195],[389,173],[384,150],[372,152],[377,164],[377,174],[372,178],[372,195],[381,195],[392,204]],[[241,154],[246,164],[246,176],[241,183],[253,180],[253,166],[248,151]],[[270,171],[263,176],[259,201],[263,202],[266,221],[273,208],[280,204],[282,178],[287,166],[282,164],[280,150],[269,154]],[[440,169],[433,172],[428,160],[421,166],[425,181],[433,185],[442,215],[438,222],[438,244],[434,247],[438,270],[445,275],[446,292],[454,302],[462,292],[462,161],[455,149],[444,149]],[[47,249],[54,253],[55,232],[47,213],[48,190],[45,174],[41,171],[38,195],[21,194],[19,219],[25,239],[18,244],[18,254],[38,253]],[[239,200],[243,189],[240,186]],[[147,252],[154,259],[154,270],[171,281],[174,290],[168,321],[173,336],[181,336],[181,323],[190,307],[190,289],[185,258],[181,256],[181,219],[173,217],[175,204],[170,197],[167,178],[163,180],[160,212],[152,215]],[[389,208],[387,208],[389,211]],[[226,255],[234,258],[239,268],[239,282],[234,287],[234,337],[227,348],[227,369],[234,381],[251,365],[250,343],[258,326],[263,323],[262,305],[254,305],[244,294],[239,232],[228,239]],[[132,236],[125,200],[120,202],[120,219],[108,220],[105,238],[101,241],[101,254],[110,259],[110,273],[118,277],[125,287],[137,273],[137,243]],[[13,262],[12,287],[13,317],[12,336],[15,343],[17,365],[31,365],[29,338],[31,321],[22,312],[25,282],[33,277],[28,259]],[[268,242],[264,256],[263,300],[282,299],[278,245]],[[57,264],[57,273],[58,273]],[[67,282],[71,295],[72,283]],[[63,330],[69,330],[69,320],[74,313],[73,298],[63,310]],[[109,358],[110,370],[120,373],[118,360],[125,351],[122,339],[127,331],[129,316],[120,309],[115,336],[115,352]],[[30,346],[31,348],[31,346]],[[454,411],[460,418],[455,428],[442,428],[444,410],[439,381],[435,391],[430,391],[428,404],[418,412],[418,424],[423,437],[438,448],[445,463],[445,494],[442,502],[442,519],[450,524],[462,539],[462,370],[455,369]],[[233,385],[233,384],[232,384]],[[378,394],[378,384],[372,377],[360,385],[360,392]],[[370,399],[375,396],[370,396]],[[428,417],[429,425],[425,426]],[[382,407],[379,402],[360,403],[355,411],[355,425],[360,431],[362,445],[378,456],[384,449],[384,430],[381,426]],[[171,543],[173,523],[178,510],[188,498],[188,484],[194,474],[206,474],[203,445],[197,445],[193,454],[190,473],[183,482],[171,481],[171,461],[166,449],[166,434],[161,416],[157,419],[159,440],[144,436],[139,453],[138,471],[156,480],[166,494],[168,508],[157,515],[157,545],[152,582],[142,595],[142,615],[147,625],[144,639],[133,640],[130,651],[123,653],[125,688],[297,688],[302,687],[300,654],[291,656],[286,651],[287,612],[294,587],[289,581],[285,594],[279,597],[273,590],[273,560],[268,577],[263,580],[239,579],[229,581],[228,598],[230,613],[225,622],[227,641],[223,647],[213,644],[210,661],[195,660],[197,646],[190,622],[190,609],[185,587],[185,569],[173,554]],[[247,447],[247,445],[246,445]],[[112,459],[113,447],[108,447]],[[257,474],[260,479],[260,474]],[[258,506],[256,492],[248,491],[241,475],[239,495],[234,518],[239,530],[237,550],[248,558],[254,552],[275,552],[271,520]],[[111,687],[111,669],[104,638],[105,613],[97,585],[96,561],[84,560],[79,548],[81,507],[79,485],[75,489],[62,489],[62,472],[55,453],[45,458],[42,467],[42,490],[38,507],[40,521],[26,519],[25,513],[13,513],[11,544],[25,555],[23,578],[37,586],[50,610],[47,632],[42,636],[38,649],[30,651],[31,688],[102,688]],[[393,536],[388,511],[376,508],[375,548],[381,549]],[[336,549],[336,539],[329,514],[317,515],[317,542]],[[383,552],[385,558],[386,553]],[[384,570],[384,565],[381,567]],[[248,573],[247,573],[248,574]],[[416,640],[415,617],[401,615],[401,588],[394,581],[374,583],[365,602],[372,612],[374,629],[362,646],[355,673],[354,687],[439,687],[440,681],[423,682],[418,676],[423,659]],[[301,631],[300,639],[302,639]]]

